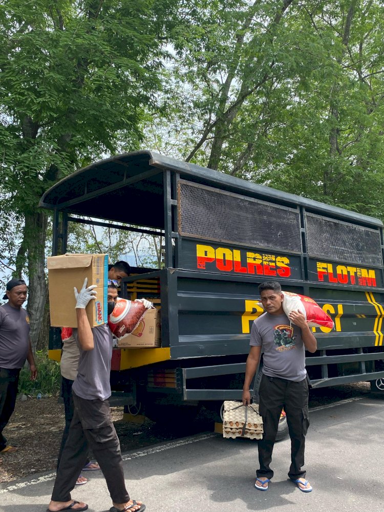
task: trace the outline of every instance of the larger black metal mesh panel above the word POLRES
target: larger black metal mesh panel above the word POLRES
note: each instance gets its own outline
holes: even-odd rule
[[[250,247],[302,251],[296,210],[184,181],[179,182],[179,232]]]

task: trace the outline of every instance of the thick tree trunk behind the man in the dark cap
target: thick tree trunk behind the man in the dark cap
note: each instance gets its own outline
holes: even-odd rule
[[[40,328],[44,323],[47,297],[45,275],[45,242],[47,236],[47,214],[35,211],[25,216],[24,240],[28,247],[28,314],[30,317],[30,339],[32,350],[36,350]]]

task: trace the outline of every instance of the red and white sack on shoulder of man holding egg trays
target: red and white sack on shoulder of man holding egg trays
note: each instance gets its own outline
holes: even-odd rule
[[[283,291],[283,310],[288,316],[291,311],[300,311],[306,318],[310,327],[328,327],[333,328],[333,320],[323,309],[313,300],[313,298]]]

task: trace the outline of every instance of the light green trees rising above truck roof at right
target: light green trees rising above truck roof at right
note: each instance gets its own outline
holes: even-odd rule
[[[177,93],[164,94],[167,120],[156,118],[148,139],[384,219],[383,18],[377,0],[191,7],[168,67]]]

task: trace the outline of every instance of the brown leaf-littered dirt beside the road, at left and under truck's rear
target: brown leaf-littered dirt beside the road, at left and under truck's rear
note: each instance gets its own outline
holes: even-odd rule
[[[170,438],[150,420],[142,425],[123,421],[122,407],[112,407],[111,412],[122,452]],[[18,399],[4,429],[8,442],[18,446],[18,451],[0,455],[0,482],[55,470],[63,428],[64,407],[57,398]]]

